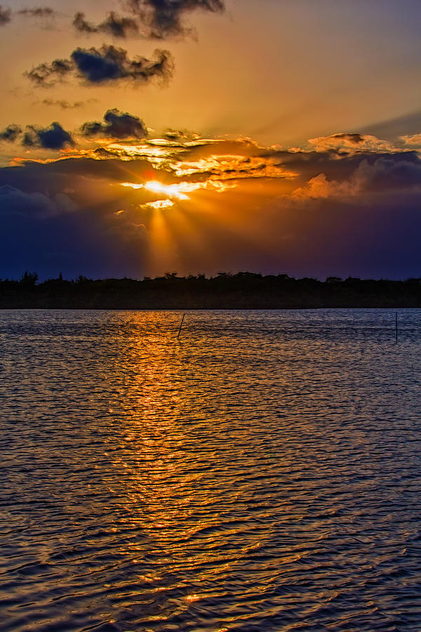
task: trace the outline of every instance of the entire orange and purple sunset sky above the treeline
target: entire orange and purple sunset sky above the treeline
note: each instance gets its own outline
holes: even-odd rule
[[[419,0],[0,6],[0,278],[421,277]]]

